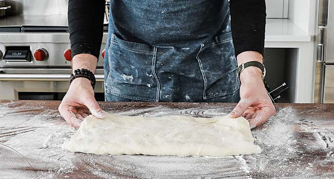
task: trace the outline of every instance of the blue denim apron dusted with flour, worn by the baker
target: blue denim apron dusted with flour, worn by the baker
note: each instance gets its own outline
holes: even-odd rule
[[[228,0],[110,2],[106,101],[237,102]]]

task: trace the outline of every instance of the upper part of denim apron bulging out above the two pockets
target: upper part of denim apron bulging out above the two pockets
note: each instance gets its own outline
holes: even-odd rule
[[[231,31],[228,0],[110,2],[109,31],[156,47],[202,43]]]

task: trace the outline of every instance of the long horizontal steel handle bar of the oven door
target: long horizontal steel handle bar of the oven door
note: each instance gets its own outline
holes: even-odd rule
[[[104,75],[96,74],[96,81],[103,81]],[[69,81],[68,74],[0,74],[0,81]]]

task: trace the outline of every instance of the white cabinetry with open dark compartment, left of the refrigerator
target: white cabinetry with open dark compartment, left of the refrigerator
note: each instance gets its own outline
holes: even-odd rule
[[[266,82],[271,89],[282,82],[290,87],[278,102],[311,103],[316,93],[314,34],[317,0],[266,0],[266,5]]]

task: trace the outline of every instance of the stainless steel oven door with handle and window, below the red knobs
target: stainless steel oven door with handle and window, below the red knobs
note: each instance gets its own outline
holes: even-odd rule
[[[97,71],[96,98],[104,100],[103,70]],[[61,100],[69,87],[70,69],[2,69],[0,99]]]

